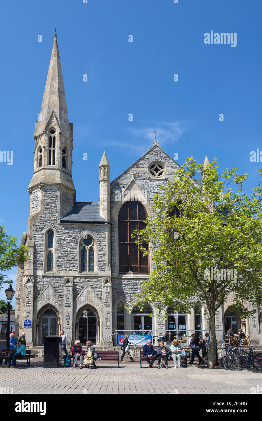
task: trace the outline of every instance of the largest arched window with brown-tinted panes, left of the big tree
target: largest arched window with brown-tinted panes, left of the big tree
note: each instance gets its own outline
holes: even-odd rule
[[[119,212],[119,273],[148,273],[148,255],[143,256],[142,250],[135,243],[131,234],[146,228],[146,210],[140,203],[127,202]],[[148,250],[148,244],[143,244]]]

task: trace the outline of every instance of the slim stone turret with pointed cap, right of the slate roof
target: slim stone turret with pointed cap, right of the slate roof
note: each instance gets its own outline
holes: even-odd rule
[[[99,164],[99,213],[101,218],[110,222],[110,165],[106,152]]]

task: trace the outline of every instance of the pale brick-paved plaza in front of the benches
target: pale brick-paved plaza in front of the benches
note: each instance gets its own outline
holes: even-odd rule
[[[0,387],[13,387],[13,393],[178,393],[250,394],[262,387],[262,372],[247,369],[208,370],[205,366],[149,369],[139,362],[116,364],[97,362],[96,370],[43,368],[42,360],[32,359],[31,367],[17,362],[19,369],[0,368]],[[161,390],[160,390],[161,389]]]

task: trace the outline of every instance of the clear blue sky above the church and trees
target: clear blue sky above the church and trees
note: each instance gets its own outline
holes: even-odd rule
[[[221,171],[236,166],[249,173],[247,192],[258,184],[262,164],[251,163],[250,152],[262,150],[261,2],[16,0],[1,10],[0,150],[13,151],[13,165],[0,162],[0,224],[19,242],[55,27],[74,124],[78,201],[99,200],[103,151],[114,180],[152,146],[154,130],[180,165],[190,156],[216,157]],[[211,31],[236,32],[236,47],[204,44]]]

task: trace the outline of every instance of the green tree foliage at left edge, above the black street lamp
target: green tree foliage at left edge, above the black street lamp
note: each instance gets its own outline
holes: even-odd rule
[[[4,272],[9,271],[18,262],[29,258],[29,248],[25,245],[17,245],[17,238],[7,235],[3,226],[0,226],[0,287],[3,283],[9,283]]]

